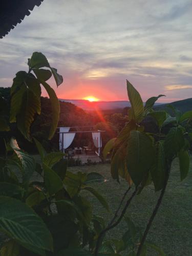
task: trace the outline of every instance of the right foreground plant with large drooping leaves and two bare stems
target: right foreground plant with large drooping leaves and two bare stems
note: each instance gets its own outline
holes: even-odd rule
[[[154,103],[164,95],[151,97],[144,105],[140,94],[129,81],[127,81],[127,93],[131,103],[131,109],[128,111],[130,121],[126,123],[117,138],[111,139],[106,144],[103,157],[106,158],[108,152],[112,151],[112,177],[119,182],[120,176],[129,183],[130,187],[122,198],[120,206],[123,204],[123,200],[130,188],[135,188],[122,211],[120,212],[119,206],[112,221],[101,231],[97,240],[95,255],[99,255],[98,252],[100,246],[102,246],[101,241],[104,234],[120,223],[134,197],[152,182],[154,183],[155,191],[161,190],[161,193],[144,233],[140,236],[138,244],[132,248],[129,255],[146,255],[146,246],[152,247],[161,255],[164,255],[159,247],[149,242],[145,243],[145,240],[162,202],[172,162],[175,158],[179,158],[181,180],[185,179],[188,174],[188,148],[191,134],[187,133],[186,129],[187,123],[192,118],[192,111],[182,114],[172,106],[169,106],[175,117],[170,116],[166,111],[154,111],[152,109]],[[156,134],[144,131],[142,121],[147,116],[155,119],[158,126]]]

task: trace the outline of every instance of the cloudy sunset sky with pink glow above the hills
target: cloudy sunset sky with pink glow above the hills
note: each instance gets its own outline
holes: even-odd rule
[[[126,79],[143,100],[190,98],[191,13],[191,0],[44,0],[0,40],[0,86],[38,51],[64,77],[59,98],[127,99]]]

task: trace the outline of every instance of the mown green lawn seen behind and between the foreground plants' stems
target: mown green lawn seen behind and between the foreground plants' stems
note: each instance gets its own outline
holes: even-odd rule
[[[88,197],[93,203],[97,214],[106,220],[110,220],[127,189],[127,183],[122,180],[118,184],[111,178],[110,164],[69,167],[68,170],[74,172],[98,172],[107,179],[105,183],[98,183],[95,187],[108,200],[111,208],[110,214],[103,209],[95,198],[89,195]],[[158,196],[159,193],[154,192],[153,185],[144,188],[142,193],[132,201],[127,215],[137,225],[144,228]],[[122,222],[108,236],[110,238],[118,238],[125,228],[125,223]],[[163,202],[148,233],[147,240],[159,245],[166,255],[192,255],[192,171],[190,168],[188,177],[181,182],[177,161],[173,163],[172,174]],[[149,255],[155,254],[150,252]]]

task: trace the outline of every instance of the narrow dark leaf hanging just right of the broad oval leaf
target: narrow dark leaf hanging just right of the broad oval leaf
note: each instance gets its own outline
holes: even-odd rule
[[[152,180],[154,182],[156,191],[162,189],[163,187],[165,181],[165,172],[164,145],[162,141],[159,141],[157,145],[156,162],[151,168]]]

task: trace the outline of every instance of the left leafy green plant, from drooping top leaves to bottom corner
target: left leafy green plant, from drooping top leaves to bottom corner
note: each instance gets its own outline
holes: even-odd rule
[[[42,84],[52,104],[51,138],[59,118],[59,101],[46,80],[53,74],[58,86],[62,77],[41,53],[33,53],[28,65],[28,73],[20,71],[13,79],[9,119],[17,123],[26,139],[32,140],[30,126],[35,114],[40,113]],[[0,100],[0,131],[6,132],[10,130],[8,116],[5,100],[1,96]],[[5,156],[0,158],[1,256],[76,255],[84,252],[85,246],[93,251],[104,221],[93,214],[82,191],[91,193],[109,210],[108,203],[92,187],[94,182],[103,182],[103,177],[67,172],[63,153],[47,153],[39,141],[33,140],[40,162],[22,151],[14,138],[5,142]]]

